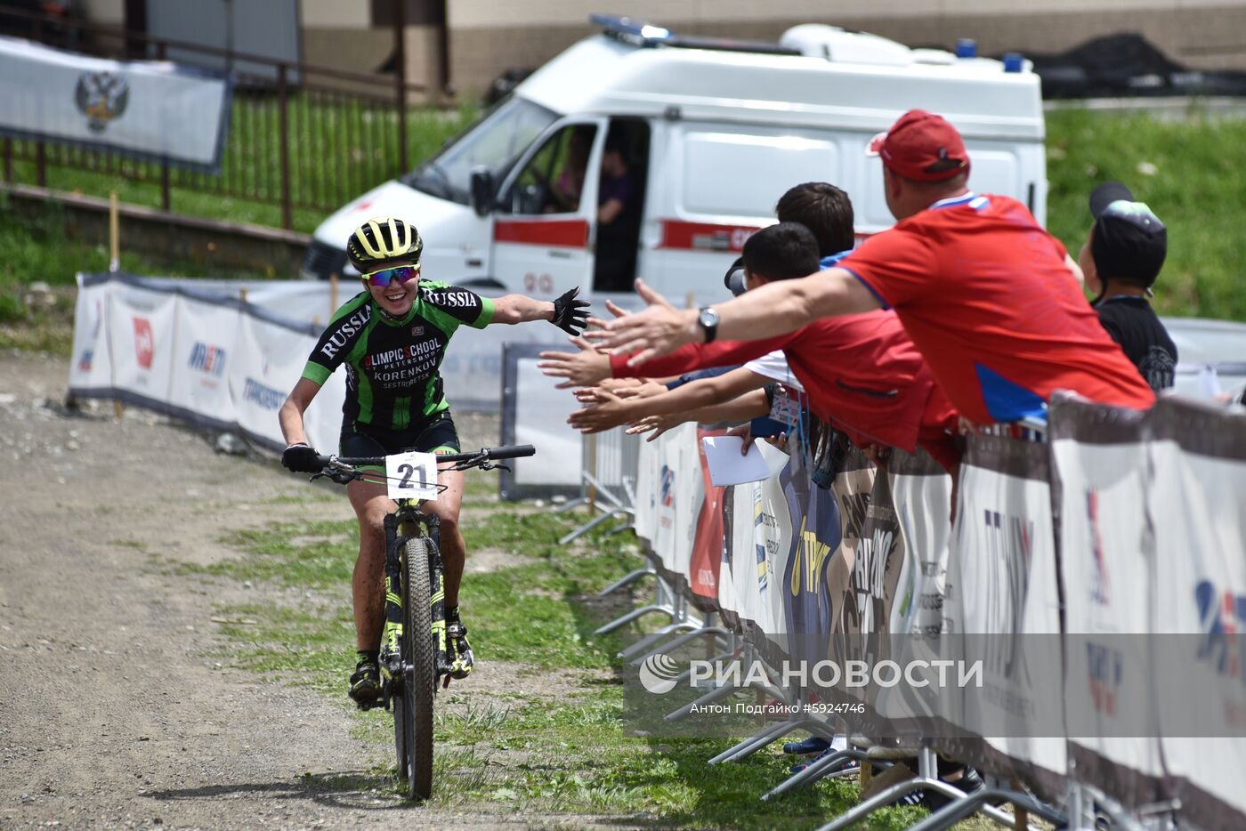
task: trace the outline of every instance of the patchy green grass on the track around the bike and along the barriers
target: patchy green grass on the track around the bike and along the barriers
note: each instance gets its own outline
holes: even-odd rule
[[[491,547],[516,556],[512,567],[468,574],[462,604],[480,672],[487,673],[490,662],[508,662],[518,675],[500,694],[482,694],[467,681],[439,696],[432,807],[566,814],[572,821],[574,815],[609,815],[630,826],[800,829],[854,804],[856,786],[845,781],[761,802],[758,797],[790,764],[773,749],[741,764],[709,767],[705,760],[726,740],[659,740],[627,731],[614,658],[622,642],[591,637],[602,620],[583,598],[635,567],[639,557],[630,537],[591,534],[558,546],[558,537],[579,521],[506,506],[467,529],[468,551]],[[209,581],[252,581],[265,598],[217,610],[231,660],[282,683],[323,690],[345,706],[355,546],[344,534],[353,533],[351,526],[308,522],[235,532],[227,544],[243,552],[239,557],[206,568],[178,567]],[[557,679],[557,696],[543,691],[543,679]],[[364,714],[355,723],[383,761],[353,786],[394,792],[392,766],[385,761],[392,746],[389,715]],[[901,829],[918,816],[917,809],[888,809],[870,827]]]

